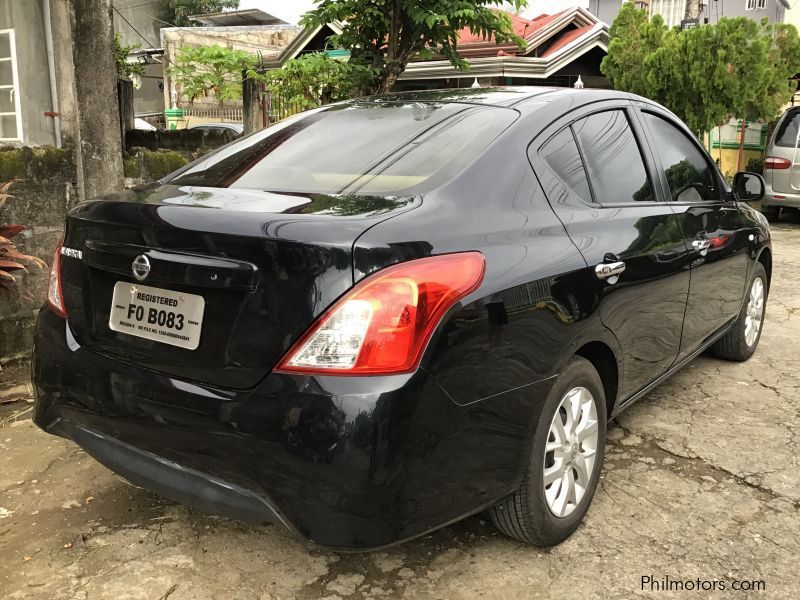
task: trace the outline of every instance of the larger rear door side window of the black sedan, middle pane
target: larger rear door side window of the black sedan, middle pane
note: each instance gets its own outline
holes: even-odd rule
[[[639,144],[621,110],[597,113],[575,122],[594,197],[600,204],[653,202]]]

